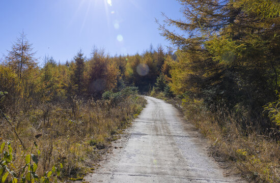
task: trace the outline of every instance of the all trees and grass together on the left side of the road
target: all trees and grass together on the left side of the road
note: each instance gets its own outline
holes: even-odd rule
[[[45,56],[39,67],[34,54],[22,33],[0,65],[0,174],[11,181],[54,181],[57,171],[75,179],[91,171],[98,150],[145,105],[138,92],[153,87],[172,55],[160,45],[131,56],[94,48],[89,58],[78,50],[64,64]]]

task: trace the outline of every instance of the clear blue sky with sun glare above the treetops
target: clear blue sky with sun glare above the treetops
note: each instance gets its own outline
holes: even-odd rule
[[[159,35],[161,12],[181,17],[176,0],[1,0],[0,54],[7,53],[24,31],[36,57],[64,63],[81,48],[93,46],[111,55],[142,53],[150,44],[170,46]]]

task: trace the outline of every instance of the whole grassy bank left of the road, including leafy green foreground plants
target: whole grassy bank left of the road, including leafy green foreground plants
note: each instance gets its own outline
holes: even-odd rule
[[[69,106],[41,106],[14,119],[7,115],[13,127],[4,119],[0,123],[0,144],[5,144],[0,153],[0,170],[4,172],[0,174],[3,178],[7,173],[4,182],[16,183],[22,178],[37,182],[41,177],[48,179],[44,182],[82,179],[145,104],[145,99],[135,93],[97,101],[74,97]],[[62,166],[57,166],[60,163]]]

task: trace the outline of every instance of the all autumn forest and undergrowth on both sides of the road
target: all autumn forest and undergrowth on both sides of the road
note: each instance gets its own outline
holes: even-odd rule
[[[280,3],[178,2],[181,19],[157,21],[174,48],[110,56],[94,47],[39,67],[22,33],[0,65],[0,176],[51,182],[91,171],[95,149],[141,111],[143,94],[179,106],[211,154],[246,179],[279,182]]]

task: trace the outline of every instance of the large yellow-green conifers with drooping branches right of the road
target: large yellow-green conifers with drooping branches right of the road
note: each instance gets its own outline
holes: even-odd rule
[[[179,49],[171,64],[172,90],[191,92],[208,106],[223,103],[236,111],[246,106],[261,113],[279,88],[279,2],[178,2],[182,18],[164,15],[159,25],[162,36]]]

